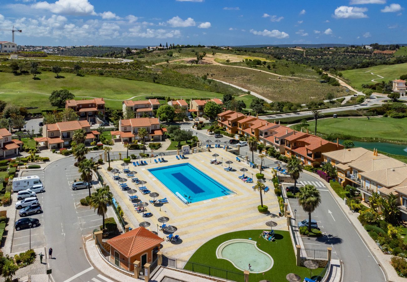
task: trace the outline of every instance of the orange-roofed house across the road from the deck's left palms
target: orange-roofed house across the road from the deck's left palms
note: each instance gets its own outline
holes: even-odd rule
[[[46,146],[49,150],[60,149],[70,145],[74,131],[78,129],[85,131],[85,145],[98,140],[100,133],[96,130],[90,130],[90,124],[85,120],[45,124],[42,130],[45,136],[34,140],[40,145]]]

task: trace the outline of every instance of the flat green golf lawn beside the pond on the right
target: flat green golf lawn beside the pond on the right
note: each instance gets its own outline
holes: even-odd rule
[[[315,121],[309,121],[315,128]],[[324,134],[346,134],[354,137],[381,138],[407,141],[407,119],[390,117],[321,119],[317,131]]]

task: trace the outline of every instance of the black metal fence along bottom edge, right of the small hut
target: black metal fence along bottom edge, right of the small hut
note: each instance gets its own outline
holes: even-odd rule
[[[182,260],[179,258],[162,256],[162,265],[165,267],[173,267],[175,269],[184,269],[192,271],[194,273],[201,273],[207,276],[221,278],[228,281],[244,282],[245,280],[243,271],[237,272],[227,269],[221,269],[197,262],[189,262],[188,260]]]

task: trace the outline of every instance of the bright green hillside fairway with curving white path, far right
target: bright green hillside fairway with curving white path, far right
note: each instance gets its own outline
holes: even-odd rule
[[[350,85],[358,90],[362,90],[362,84],[375,84],[377,82],[394,80],[400,78],[400,75],[407,74],[407,63],[396,65],[372,66],[370,68],[357,68],[354,70],[341,72],[346,79],[349,79]],[[371,73],[374,73],[372,75]],[[383,78],[377,75],[383,76]]]

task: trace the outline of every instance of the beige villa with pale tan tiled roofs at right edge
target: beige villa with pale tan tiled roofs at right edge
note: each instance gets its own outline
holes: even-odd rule
[[[379,154],[377,150],[351,148],[323,153],[326,162],[335,165],[337,180],[344,187],[351,185],[368,202],[373,192],[382,197],[398,195],[403,220],[407,219],[407,164]]]

